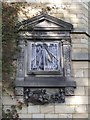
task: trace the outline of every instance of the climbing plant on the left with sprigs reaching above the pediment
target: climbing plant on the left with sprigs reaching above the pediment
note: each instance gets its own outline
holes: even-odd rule
[[[16,24],[18,21],[18,14],[21,11],[27,19],[32,16],[27,15],[25,11],[26,2],[3,2],[2,3],[2,79],[3,85],[7,88],[14,87],[15,70],[17,57],[17,38],[18,34],[16,32]],[[29,7],[32,5],[29,4]],[[51,8],[47,6],[38,6],[41,10],[36,11],[34,15],[41,12],[49,12]],[[31,7],[31,9],[37,9],[36,7]],[[3,87],[4,87],[3,86]]]

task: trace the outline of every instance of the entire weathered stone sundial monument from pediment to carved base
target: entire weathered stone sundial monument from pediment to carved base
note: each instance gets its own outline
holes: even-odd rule
[[[70,23],[41,14],[17,25],[16,94],[33,104],[63,103],[74,95]]]

